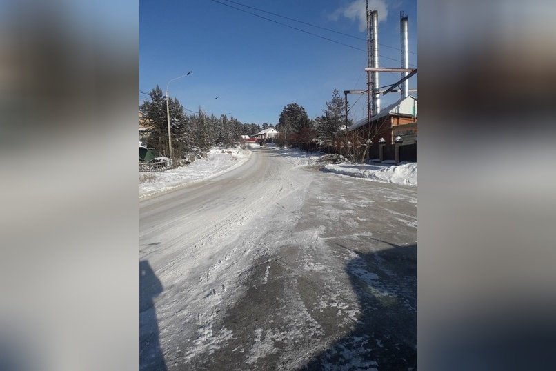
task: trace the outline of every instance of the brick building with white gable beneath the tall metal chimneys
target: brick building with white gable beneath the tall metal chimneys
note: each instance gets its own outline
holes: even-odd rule
[[[394,143],[398,135],[404,144],[415,143],[417,138],[417,98],[408,96],[383,108],[379,114],[368,120],[361,119],[348,128],[357,130],[364,139],[378,143],[384,138],[386,144]]]

